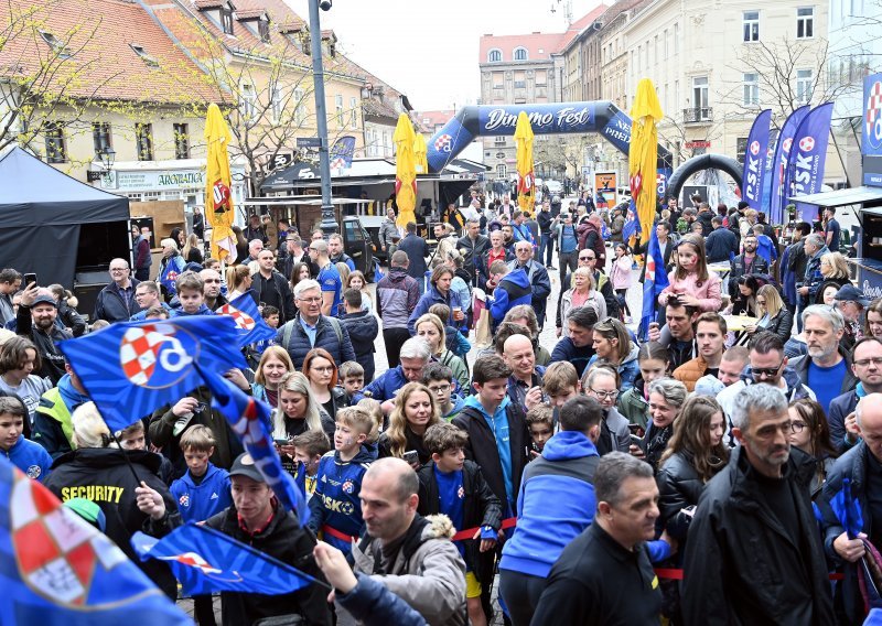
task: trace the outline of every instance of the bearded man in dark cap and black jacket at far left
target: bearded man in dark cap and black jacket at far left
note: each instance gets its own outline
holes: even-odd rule
[[[40,289],[32,282],[21,292],[21,304],[15,316],[18,334],[28,337],[36,346],[42,367],[34,371],[57,385],[64,376],[64,356],[56,347],[58,342],[73,338],[67,331],[55,324],[58,305],[47,289]]]

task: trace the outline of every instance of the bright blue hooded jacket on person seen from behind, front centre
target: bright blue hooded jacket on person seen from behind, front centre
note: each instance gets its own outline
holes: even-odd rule
[[[583,433],[560,431],[527,465],[515,535],[499,568],[546,578],[567,544],[594,519],[594,471],[600,456]]]

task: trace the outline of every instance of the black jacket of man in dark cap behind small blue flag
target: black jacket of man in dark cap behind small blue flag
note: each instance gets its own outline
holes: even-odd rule
[[[236,506],[233,505],[209,517],[205,525],[320,581],[325,580],[312,558],[312,550],[316,543],[315,536],[300,526],[293,512],[286,511],[278,501],[275,501],[272,520],[255,535],[241,529],[237,516]],[[332,618],[326,598],[327,590],[316,584],[306,585],[284,595],[222,593],[223,624],[245,626],[255,624],[263,617],[298,614],[302,615],[310,626],[323,624],[330,626]]]

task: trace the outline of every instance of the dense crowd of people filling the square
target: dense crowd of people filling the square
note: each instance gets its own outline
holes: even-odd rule
[[[835,214],[785,246],[745,206],[671,201],[654,226],[669,284],[643,337],[627,293],[645,250],[605,236],[620,215],[570,204],[537,205],[534,233],[505,197],[433,249],[390,209],[375,289],[338,235],[260,216],[223,273],[198,238],[163,239],[159,276],[180,271],[153,281],[136,229],[136,271],[110,262],[90,325],[63,289],[3,269],[0,449],[172,598],[136,531],[205,522],[335,589],[224,592],[224,624],[862,623],[882,584],[882,301],[849,280]],[[111,432],[57,347],[246,294],[276,337],[225,376],[271,409],[305,524],[208,388]],[[730,315],[752,322],[731,332]],[[211,596],[194,615],[215,623]]]

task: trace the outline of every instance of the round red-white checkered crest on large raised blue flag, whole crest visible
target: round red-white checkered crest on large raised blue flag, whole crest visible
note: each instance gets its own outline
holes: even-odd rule
[[[126,331],[119,346],[119,363],[130,381],[161,389],[190,371],[198,343],[174,324],[146,324]]]

